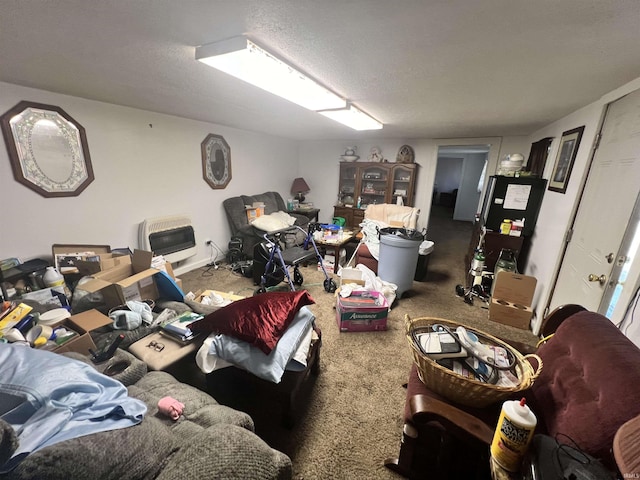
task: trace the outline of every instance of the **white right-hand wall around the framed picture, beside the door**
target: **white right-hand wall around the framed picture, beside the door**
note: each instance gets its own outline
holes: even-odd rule
[[[578,195],[582,191],[587,167],[591,159],[594,139],[598,133],[605,107],[608,103],[638,88],[640,88],[640,78],[538,130],[530,137],[531,142],[545,137],[553,137],[543,175],[544,178],[548,179],[553,170],[562,132],[581,125],[585,126],[567,191],[565,194],[549,190],[545,192],[536,230],[532,237],[527,271],[525,273],[535,276],[538,280],[533,301],[533,306],[536,310],[534,331],[537,330],[544,316],[544,309],[552,294],[553,279],[561,262],[563,239],[569,227],[569,222],[577,209]]]

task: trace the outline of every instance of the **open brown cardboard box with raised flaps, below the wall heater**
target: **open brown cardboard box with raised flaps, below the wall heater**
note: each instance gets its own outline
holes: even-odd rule
[[[95,273],[81,288],[89,293],[101,292],[110,308],[129,300],[155,300],[158,288],[154,276],[160,270],[149,267],[152,258],[153,253],[136,250],[130,264]]]

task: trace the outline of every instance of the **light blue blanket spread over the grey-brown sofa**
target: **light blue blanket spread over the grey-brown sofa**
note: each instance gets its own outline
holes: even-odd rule
[[[20,442],[0,473],[63,440],[130,427],[147,411],[120,382],[90,365],[22,345],[0,344],[0,418]]]

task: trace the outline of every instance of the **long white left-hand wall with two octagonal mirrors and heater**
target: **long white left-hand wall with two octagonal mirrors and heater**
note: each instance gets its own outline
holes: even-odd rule
[[[0,83],[0,112],[20,100],[57,105],[85,128],[95,180],[77,197],[44,198],[14,180],[3,145],[0,258],[48,258],[54,243],[133,249],[142,220],[186,213],[198,254],[179,265],[180,273],[210,261],[205,238],[227,250],[224,199],[266,190],[286,199],[298,174],[292,140]],[[202,178],[200,144],[209,133],[231,148],[233,178],[224,190]]]

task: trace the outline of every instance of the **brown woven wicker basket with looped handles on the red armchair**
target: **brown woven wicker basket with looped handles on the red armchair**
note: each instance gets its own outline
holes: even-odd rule
[[[542,370],[542,359],[537,355],[522,355],[502,340],[480,330],[474,330],[464,326],[467,330],[477,333],[479,336],[483,337],[483,341],[488,340],[494,345],[503,347],[515,356],[516,364],[514,366],[513,373],[518,377],[520,383],[517,386],[506,387],[483,383],[478,380],[463,377],[462,375],[459,375],[431,360],[429,357],[424,355],[420,351],[420,348],[415,344],[412,335],[413,330],[429,327],[435,323],[445,325],[451,329],[456,329],[461,326],[459,323],[443,320],[441,318],[420,317],[410,319],[407,315],[405,316],[405,331],[409,347],[413,354],[413,360],[418,369],[418,376],[420,377],[420,380],[422,380],[430,390],[448,398],[449,400],[469,407],[486,407],[493,403],[504,401],[514,393],[526,390],[533,385],[533,382],[538,378],[538,375]],[[528,358],[535,358],[538,365],[535,370],[527,360]]]

